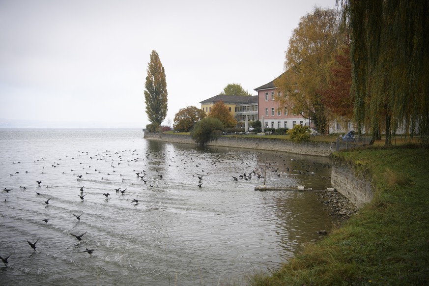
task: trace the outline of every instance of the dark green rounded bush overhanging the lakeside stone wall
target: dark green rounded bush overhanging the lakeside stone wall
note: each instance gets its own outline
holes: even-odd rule
[[[204,145],[207,142],[216,140],[222,132],[224,124],[221,120],[213,117],[206,117],[198,121],[191,130],[191,137],[196,143]]]

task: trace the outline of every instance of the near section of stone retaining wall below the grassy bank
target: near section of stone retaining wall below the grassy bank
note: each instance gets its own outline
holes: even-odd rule
[[[373,198],[371,175],[354,163],[333,158],[331,184],[358,208]]]

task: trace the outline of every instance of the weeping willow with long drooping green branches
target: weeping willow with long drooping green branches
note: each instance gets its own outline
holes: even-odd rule
[[[384,131],[387,146],[401,128],[428,146],[429,2],[343,0],[342,9],[358,128],[373,139]]]

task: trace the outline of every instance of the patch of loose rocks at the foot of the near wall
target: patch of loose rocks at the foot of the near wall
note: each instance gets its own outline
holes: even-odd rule
[[[318,200],[324,203],[324,209],[330,211],[339,221],[348,220],[357,211],[357,207],[336,190],[318,193]]]

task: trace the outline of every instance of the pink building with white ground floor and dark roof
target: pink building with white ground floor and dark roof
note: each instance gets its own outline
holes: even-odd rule
[[[269,131],[270,128],[292,129],[296,124],[314,127],[311,120],[299,114],[293,114],[286,107],[279,106],[275,98],[279,96],[280,91],[274,86],[274,80],[255,90],[258,95],[258,119],[262,120],[262,116],[264,117],[266,131]]]

